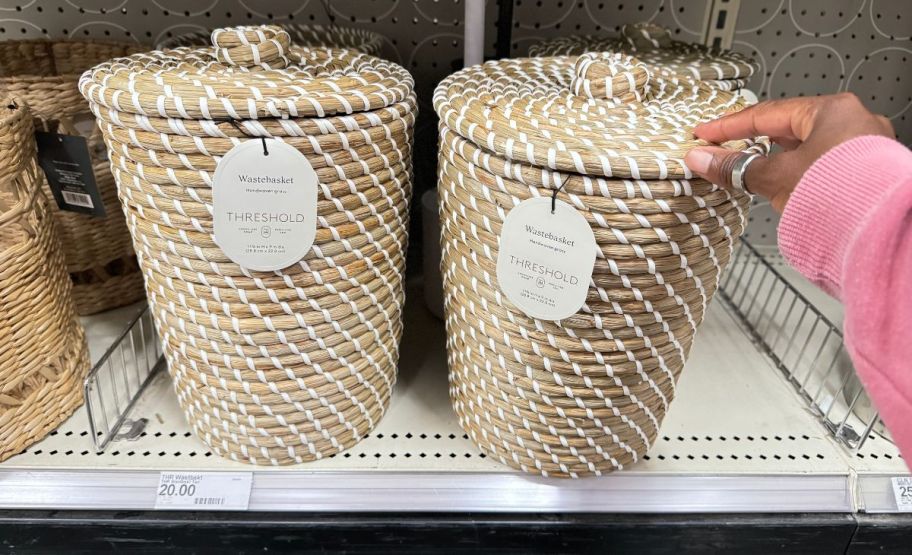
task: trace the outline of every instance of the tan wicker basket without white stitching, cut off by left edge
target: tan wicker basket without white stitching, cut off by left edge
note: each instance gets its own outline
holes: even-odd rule
[[[35,161],[32,114],[0,105],[0,461],[82,404],[85,334]]]

